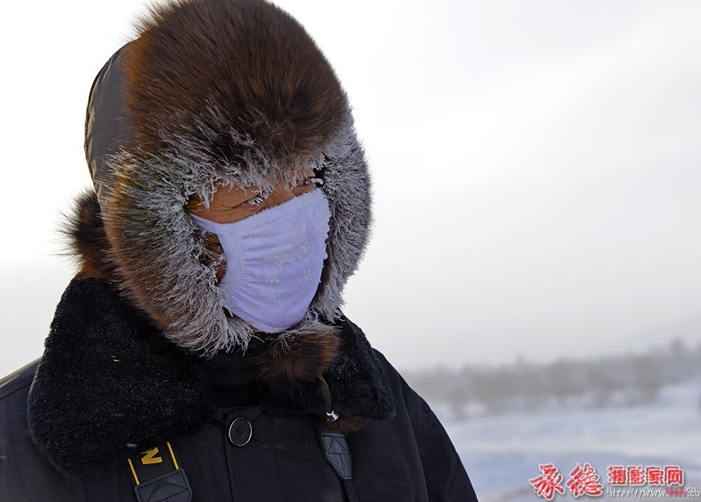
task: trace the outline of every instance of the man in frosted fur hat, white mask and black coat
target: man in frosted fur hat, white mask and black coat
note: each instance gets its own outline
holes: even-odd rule
[[[475,500],[341,313],[369,176],[325,57],[263,0],[173,0],[139,32],[90,90],[81,269],[0,386],[0,500]]]

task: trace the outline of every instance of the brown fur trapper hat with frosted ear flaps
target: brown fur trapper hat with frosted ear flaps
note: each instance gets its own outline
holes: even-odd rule
[[[95,194],[74,224],[83,273],[114,280],[179,346],[245,348],[252,330],[225,313],[221,258],[186,204],[193,194],[208,200],[218,180],[273,189],[313,168],[332,212],[328,257],[304,320],[273,346],[279,355],[315,344],[340,315],[370,224],[365,156],[332,68],[264,0],[172,0],[137,29],[90,91]]]

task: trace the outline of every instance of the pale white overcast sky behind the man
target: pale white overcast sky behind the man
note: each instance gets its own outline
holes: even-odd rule
[[[701,340],[701,3],[278,4],[354,107],[376,222],[346,313],[395,365]],[[5,8],[0,373],[74,272],[88,91],[143,5]]]

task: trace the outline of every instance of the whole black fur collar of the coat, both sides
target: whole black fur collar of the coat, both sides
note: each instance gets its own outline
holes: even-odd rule
[[[345,318],[337,327],[341,351],[324,374],[334,410],[388,418],[394,396],[365,335]],[[166,341],[107,281],[76,278],[57,307],[29,393],[32,437],[56,468],[78,473],[196,432],[227,395],[257,398],[277,414],[324,414],[318,383],[262,381],[254,352],[251,346],[245,355],[207,362]],[[212,381],[210,364],[218,371],[223,365],[231,377]]]

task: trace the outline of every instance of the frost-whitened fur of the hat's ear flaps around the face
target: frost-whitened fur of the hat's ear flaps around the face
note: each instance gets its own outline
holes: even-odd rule
[[[254,332],[247,323],[227,315],[226,298],[216,279],[221,257],[207,250],[186,204],[190,194],[207,199],[222,179],[239,186],[261,186],[269,179],[271,166],[222,170],[201,149],[186,151],[186,146],[192,146],[186,140],[179,142],[179,151],[168,155],[161,151],[158,156],[137,159],[122,153],[111,158],[118,176],[104,201],[105,226],[123,272],[122,289],[179,346],[206,353],[246,348]],[[370,223],[369,179],[352,123],[325,151],[319,163],[309,167],[322,173],[320,189],[332,214],[328,257],[303,325],[340,316],[341,292],[360,261]]]

